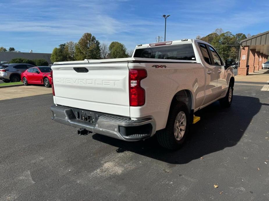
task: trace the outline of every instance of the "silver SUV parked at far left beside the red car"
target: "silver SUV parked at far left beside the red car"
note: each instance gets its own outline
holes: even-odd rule
[[[0,65],[0,80],[4,82],[19,82],[21,74],[34,65],[28,63],[11,63]]]

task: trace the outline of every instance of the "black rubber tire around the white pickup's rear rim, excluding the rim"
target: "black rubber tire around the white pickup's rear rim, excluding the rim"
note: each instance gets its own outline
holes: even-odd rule
[[[183,112],[186,117],[185,131],[181,139],[179,138],[176,139],[174,132],[175,125],[177,123],[176,118],[181,112]],[[174,103],[170,109],[165,129],[157,133],[157,140],[159,144],[166,149],[172,149],[172,150],[179,149],[188,135],[189,124],[190,124],[190,114],[187,106],[181,102]],[[179,125],[183,124],[179,123]],[[181,132],[182,131],[183,130],[181,130]]]

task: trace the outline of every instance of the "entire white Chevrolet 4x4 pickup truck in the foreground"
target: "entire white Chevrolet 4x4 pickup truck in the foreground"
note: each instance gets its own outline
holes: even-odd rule
[[[234,64],[194,39],[137,45],[131,58],[55,62],[52,119],[126,141],[156,134],[177,149],[194,112],[216,100],[231,105]]]

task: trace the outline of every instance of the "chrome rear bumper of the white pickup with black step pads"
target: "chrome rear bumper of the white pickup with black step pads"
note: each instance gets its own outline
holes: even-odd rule
[[[110,136],[125,141],[136,141],[151,137],[155,133],[152,119],[131,120],[129,118],[103,114],[96,123],[76,118],[73,108],[53,105],[51,119],[76,128]]]

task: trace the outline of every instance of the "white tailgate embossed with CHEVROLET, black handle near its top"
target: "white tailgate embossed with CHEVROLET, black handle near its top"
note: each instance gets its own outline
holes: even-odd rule
[[[127,63],[67,64],[51,68],[55,104],[130,116]],[[76,68],[88,72],[77,72]]]

